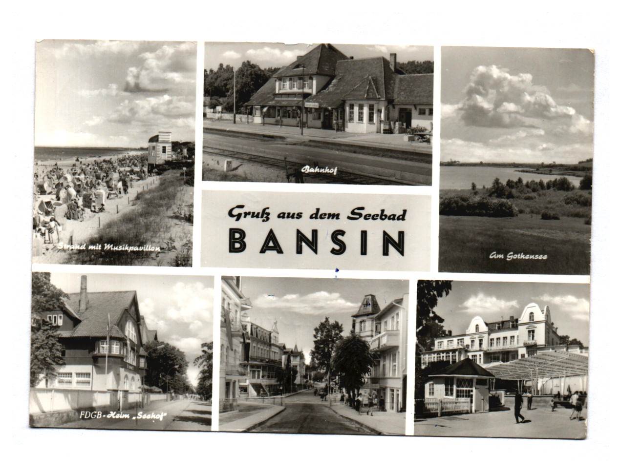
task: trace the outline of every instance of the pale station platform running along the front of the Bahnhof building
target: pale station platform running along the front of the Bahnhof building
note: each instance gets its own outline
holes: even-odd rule
[[[278,125],[246,124],[238,120],[236,124],[231,121],[203,120],[203,128],[225,130],[229,132],[252,133],[256,135],[273,135],[274,137],[288,138],[297,142],[331,142],[350,145],[370,146],[373,148],[417,151],[431,154],[431,145],[425,143],[404,142],[404,134],[383,135],[381,133],[348,133],[335,132],[334,130],[322,130],[320,128],[304,128],[301,135],[297,127],[279,127]]]

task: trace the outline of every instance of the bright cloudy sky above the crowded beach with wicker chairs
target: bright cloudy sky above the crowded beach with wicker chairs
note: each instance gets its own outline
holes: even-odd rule
[[[35,146],[194,141],[196,43],[44,40],[35,75]]]

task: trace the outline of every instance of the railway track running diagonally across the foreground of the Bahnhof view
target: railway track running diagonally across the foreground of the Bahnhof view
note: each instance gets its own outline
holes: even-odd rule
[[[250,161],[252,163],[266,164],[274,168],[284,169],[289,173],[293,171],[297,163],[291,163],[286,159],[270,158],[269,156],[253,155],[250,153],[242,153],[241,151],[232,151],[224,148],[216,148],[214,146],[203,146],[203,151],[213,155],[224,156],[225,158],[235,158],[238,160]],[[320,176],[328,181],[340,182],[342,184],[365,184],[365,185],[383,185],[391,184],[392,186],[404,186],[405,182],[395,179],[379,178],[377,176],[367,176],[366,174],[351,173],[350,171],[338,171],[338,176],[333,174],[309,174],[309,176]]]

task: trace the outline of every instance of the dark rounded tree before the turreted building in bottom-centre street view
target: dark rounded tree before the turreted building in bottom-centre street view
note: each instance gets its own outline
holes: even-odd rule
[[[341,387],[355,399],[356,393],[365,384],[365,376],[371,374],[373,356],[369,344],[352,333],[337,343],[334,351],[334,371]]]

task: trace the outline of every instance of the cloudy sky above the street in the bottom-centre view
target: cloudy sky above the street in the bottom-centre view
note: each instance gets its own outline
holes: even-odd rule
[[[322,279],[289,277],[242,277],[242,292],[250,299],[250,322],[271,330],[277,322],[279,341],[304,351],[311,361],[313,329],[329,317],[343,324],[343,336],[351,330],[351,315],[366,294],[374,294],[379,307],[401,298],[409,282],[372,279]]]

